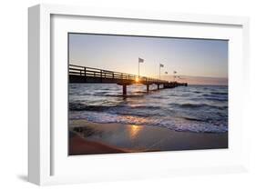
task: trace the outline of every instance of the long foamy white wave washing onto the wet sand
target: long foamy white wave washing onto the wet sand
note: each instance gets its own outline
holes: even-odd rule
[[[124,125],[154,125],[166,127],[175,131],[188,131],[193,133],[225,133],[228,131],[227,125],[214,125],[200,121],[187,121],[182,118],[148,117],[135,115],[114,115],[95,112],[73,112],[71,119],[86,119],[87,121],[99,124],[118,123]]]

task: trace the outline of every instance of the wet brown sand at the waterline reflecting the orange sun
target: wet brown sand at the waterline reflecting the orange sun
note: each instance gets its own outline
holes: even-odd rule
[[[164,127],[69,123],[69,155],[228,148],[228,133],[177,132]]]

